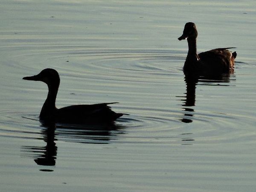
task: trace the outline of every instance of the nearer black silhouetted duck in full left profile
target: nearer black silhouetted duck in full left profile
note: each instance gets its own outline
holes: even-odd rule
[[[23,79],[43,81],[48,86],[48,95],[40,112],[40,120],[58,123],[112,123],[124,115],[111,110],[108,104],[113,103],[72,105],[57,109],[55,100],[60,77],[55,69],[44,69],[38,75],[23,77]]]

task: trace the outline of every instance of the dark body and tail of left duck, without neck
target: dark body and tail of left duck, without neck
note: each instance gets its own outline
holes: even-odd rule
[[[58,122],[74,123],[107,123],[113,122],[122,113],[116,113],[108,106],[113,103],[98,103],[92,105],[72,105],[58,109],[55,118]]]

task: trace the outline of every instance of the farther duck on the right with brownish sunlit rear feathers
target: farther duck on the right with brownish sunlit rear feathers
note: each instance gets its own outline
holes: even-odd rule
[[[187,39],[189,44],[188,55],[183,67],[184,73],[217,74],[233,72],[236,52],[231,53],[227,49],[235,47],[212,49],[197,54],[197,36],[195,23],[189,22],[185,24],[183,34],[178,38],[178,40]]]

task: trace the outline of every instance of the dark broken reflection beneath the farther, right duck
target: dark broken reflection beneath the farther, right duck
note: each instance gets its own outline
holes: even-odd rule
[[[180,119],[183,123],[192,123],[195,106],[195,89],[198,83],[200,85],[211,85],[211,86],[229,86],[221,83],[230,82],[230,74],[218,74],[218,75],[208,75],[208,76],[199,76],[199,75],[188,75],[184,73],[184,81],[186,83],[186,93],[183,101],[182,108],[185,111],[184,116]]]

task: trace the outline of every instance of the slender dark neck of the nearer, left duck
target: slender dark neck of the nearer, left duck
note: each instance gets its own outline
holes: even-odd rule
[[[41,109],[40,116],[41,118],[48,118],[52,117],[55,114],[56,111],[56,106],[55,106],[55,101],[56,101],[56,96],[58,93],[58,87],[59,85],[48,85],[48,95],[47,99],[44,102],[44,105]]]

